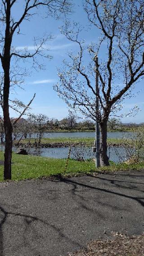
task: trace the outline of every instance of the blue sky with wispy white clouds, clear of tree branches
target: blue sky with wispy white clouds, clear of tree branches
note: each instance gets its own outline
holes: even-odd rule
[[[23,1],[25,2],[25,1]],[[83,26],[81,37],[85,40],[85,43],[89,44],[91,41],[96,42],[98,40],[98,34],[95,33],[87,22],[87,15],[84,12],[81,4],[81,0],[73,0],[75,6],[73,7],[73,14],[69,15],[69,20],[78,22]],[[22,0],[17,1],[18,5],[13,8],[14,17],[18,18],[18,15],[22,10]],[[15,35],[13,46],[16,49],[23,49],[27,47],[29,50],[33,50],[33,37],[42,37],[43,34],[52,34],[53,40],[49,41],[49,55],[52,55],[52,59],[44,59],[45,70],[31,69],[31,63],[22,63],[22,66],[26,66],[30,75],[25,78],[22,84],[23,89],[15,88],[11,91],[10,97],[12,99],[18,98],[25,104],[36,93],[36,97],[31,104],[31,113],[45,114],[49,118],[56,118],[58,120],[63,119],[68,115],[67,105],[57,96],[57,93],[53,90],[53,85],[58,82],[57,68],[62,66],[63,59],[67,59],[67,52],[69,50],[76,51],[77,46],[75,43],[68,41],[67,38],[61,34],[60,28],[63,25],[63,18],[54,19],[51,17],[45,18],[44,10],[41,10],[39,15],[33,16],[31,21],[24,21],[20,26],[20,35]],[[104,54],[103,52],[101,53]],[[138,91],[140,91],[138,93]],[[137,84],[134,90],[135,97],[124,102],[124,112],[128,112],[134,105],[139,106],[138,114],[133,117],[126,117],[121,119],[123,123],[141,123],[144,122],[144,86],[143,82]],[[18,114],[14,110],[10,109],[10,116],[16,117]]]

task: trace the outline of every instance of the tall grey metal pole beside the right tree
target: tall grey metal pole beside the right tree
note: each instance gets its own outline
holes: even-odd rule
[[[98,75],[98,57],[95,55],[94,57],[95,62],[95,91],[96,94],[99,93],[99,75]],[[96,102],[95,102],[95,111],[96,114],[99,112],[99,97],[96,95]],[[96,115],[97,116],[97,115]],[[99,131],[99,123],[96,120],[95,122],[95,143],[96,143],[96,153],[95,153],[95,167],[100,166],[100,131]]]

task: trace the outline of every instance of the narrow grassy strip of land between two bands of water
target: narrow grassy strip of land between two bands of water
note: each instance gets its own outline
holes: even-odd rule
[[[23,139],[20,141],[22,144],[27,144],[29,139]],[[15,142],[16,143],[16,142]],[[31,138],[31,144],[35,144],[35,139]],[[92,146],[94,144],[94,138],[42,138],[41,144],[47,143],[83,143],[85,146]],[[119,138],[108,138],[108,144],[126,144],[130,145],[131,141],[129,139],[119,139]]]

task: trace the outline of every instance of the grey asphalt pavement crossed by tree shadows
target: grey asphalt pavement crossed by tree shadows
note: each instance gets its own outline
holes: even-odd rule
[[[144,232],[144,171],[0,183],[0,256],[66,256],[111,231]]]

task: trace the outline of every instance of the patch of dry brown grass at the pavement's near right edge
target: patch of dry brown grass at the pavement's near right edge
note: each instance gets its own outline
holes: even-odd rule
[[[144,256],[144,235],[128,237],[120,233],[113,233],[112,240],[94,240],[68,256]]]

